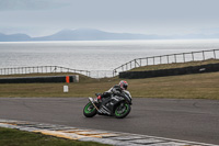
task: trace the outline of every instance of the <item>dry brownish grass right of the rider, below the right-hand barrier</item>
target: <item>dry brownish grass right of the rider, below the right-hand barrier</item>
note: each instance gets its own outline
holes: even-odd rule
[[[132,80],[131,94],[145,98],[219,99],[219,72]]]

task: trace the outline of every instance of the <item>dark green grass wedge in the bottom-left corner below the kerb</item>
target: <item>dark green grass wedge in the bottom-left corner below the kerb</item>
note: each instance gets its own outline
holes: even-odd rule
[[[93,142],[79,142],[0,127],[0,146],[104,146]]]

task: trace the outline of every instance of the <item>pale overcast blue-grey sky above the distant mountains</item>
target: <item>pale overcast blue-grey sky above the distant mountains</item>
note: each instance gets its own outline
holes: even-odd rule
[[[0,33],[219,33],[219,0],[0,0]]]

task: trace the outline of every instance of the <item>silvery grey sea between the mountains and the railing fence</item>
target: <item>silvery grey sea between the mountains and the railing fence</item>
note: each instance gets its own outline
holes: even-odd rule
[[[219,40],[1,42],[0,68],[113,70],[135,58],[219,49]]]

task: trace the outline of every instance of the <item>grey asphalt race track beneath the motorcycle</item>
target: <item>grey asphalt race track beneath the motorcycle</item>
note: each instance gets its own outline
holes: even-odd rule
[[[0,119],[143,134],[219,145],[219,101],[136,99],[126,119],[84,117],[87,98],[0,98]]]

